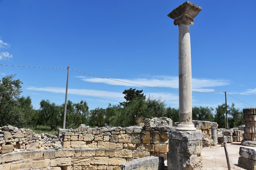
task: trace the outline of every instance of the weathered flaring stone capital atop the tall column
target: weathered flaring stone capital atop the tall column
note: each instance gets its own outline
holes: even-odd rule
[[[186,1],[174,10],[170,12],[167,16],[174,19],[174,25],[179,25],[181,23],[187,25],[194,25],[193,19],[199,14],[202,7],[196,6],[195,4]]]

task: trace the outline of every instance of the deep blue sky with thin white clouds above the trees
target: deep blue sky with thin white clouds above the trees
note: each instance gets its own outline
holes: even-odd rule
[[[0,0],[0,64],[80,71],[69,72],[68,99],[90,110],[129,88],[178,108],[178,26],[167,14],[184,2]],[[190,26],[193,106],[215,108],[225,91],[228,104],[256,106],[256,1],[191,2],[202,7]],[[64,103],[67,69],[0,65],[1,79],[10,74],[34,108]]]

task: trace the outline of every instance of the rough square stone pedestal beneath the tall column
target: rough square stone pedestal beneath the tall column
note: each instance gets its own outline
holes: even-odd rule
[[[168,170],[202,170],[201,131],[171,130],[169,134]]]

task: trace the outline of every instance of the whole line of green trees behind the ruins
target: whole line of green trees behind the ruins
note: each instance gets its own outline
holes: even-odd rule
[[[19,128],[27,126],[50,126],[56,130],[63,124],[64,104],[56,105],[49,100],[41,100],[40,108],[34,109],[30,96],[20,96],[21,84],[15,75],[9,75],[0,80],[0,127],[12,125]],[[173,122],[179,122],[179,109],[167,107],[161,98],[147,97],[142,90],[127,89],[123,94],[125,102],[104,108],[89,110],[86,101],[73,103],[68,100],[66,111],[66,128],[77,128],[80,124],[90,127],[110,126],[128,127],[143,123],[146,118],[168,117]],[[192,119],[217,122],[219,128],[226,127],[228,113],[229,128],[244,124],[243,113],[235,108],[235,104],[218,105],[215,110],[211,107],[193,107]]]

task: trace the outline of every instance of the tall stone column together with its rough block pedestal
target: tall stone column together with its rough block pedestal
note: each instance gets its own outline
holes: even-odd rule
[[[168,170],[202,170],[202,132],[192,123],[192,76],[189,25],[201,11],[191,2],[172,10],[168,17],[179,26],[179,124],[169,133]]]

